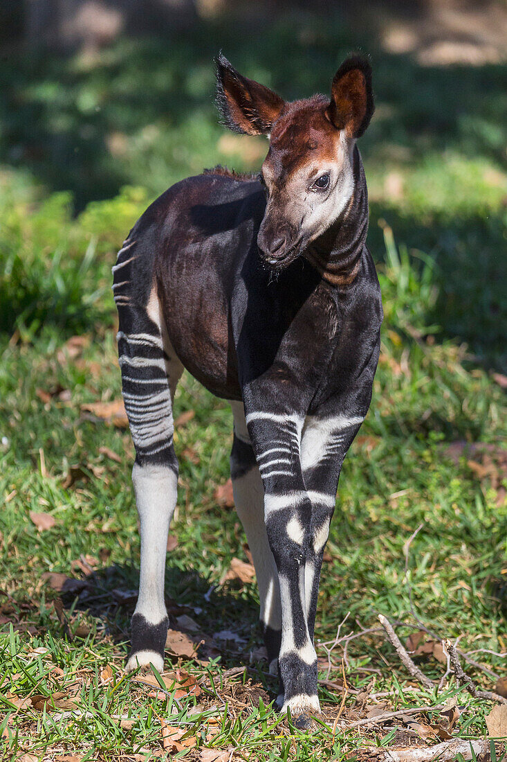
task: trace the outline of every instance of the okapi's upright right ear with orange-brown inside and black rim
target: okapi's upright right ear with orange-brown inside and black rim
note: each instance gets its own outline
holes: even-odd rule
[[[333,77],[327,116],[352,139],[362,136],[375,110],[371,66],[363,56],[347,58]]]

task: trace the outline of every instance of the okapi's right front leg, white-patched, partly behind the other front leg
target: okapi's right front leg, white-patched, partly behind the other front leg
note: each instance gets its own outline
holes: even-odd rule
[[[336,501],[336,489],[346,452],[362,416],[307,416],[301,438],[301,468],[311,498],[311,542],[305,563],[308,630],[313,642],[320,569]]]

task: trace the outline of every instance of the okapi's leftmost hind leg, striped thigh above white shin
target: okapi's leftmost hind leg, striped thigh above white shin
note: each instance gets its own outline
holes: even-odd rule
[[[113,268],[123,399],[136,447],[132,482],[141,526],[139,597],[132,616],[127,669],[152,663],[161,670],[168,625],[164,604],[167,533],[177,498],[172,397],[182,367],[167,341],[151,276],[144,283],[149,268],[136,271],[138,258],[135,242],[127,242]]]

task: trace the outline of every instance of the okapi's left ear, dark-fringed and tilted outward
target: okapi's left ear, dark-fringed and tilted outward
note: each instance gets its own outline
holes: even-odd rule
[[[265,135],[282,112],[285,101],[264,85],[241,76],[220,53],[216,63],[216,104],[229,130]]]

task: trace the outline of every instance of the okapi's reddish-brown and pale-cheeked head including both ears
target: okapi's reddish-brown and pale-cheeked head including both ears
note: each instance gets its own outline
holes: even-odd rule
[[[267,205],[257,244],[266,264],[281,270],[340,216],[352,198],[353,149],[373,114],[371,67],[346,59],[334,75],[331,96],[286,102],[239,74],[220,55],[217,103],[225,125],[269,136],[260,181]]]

